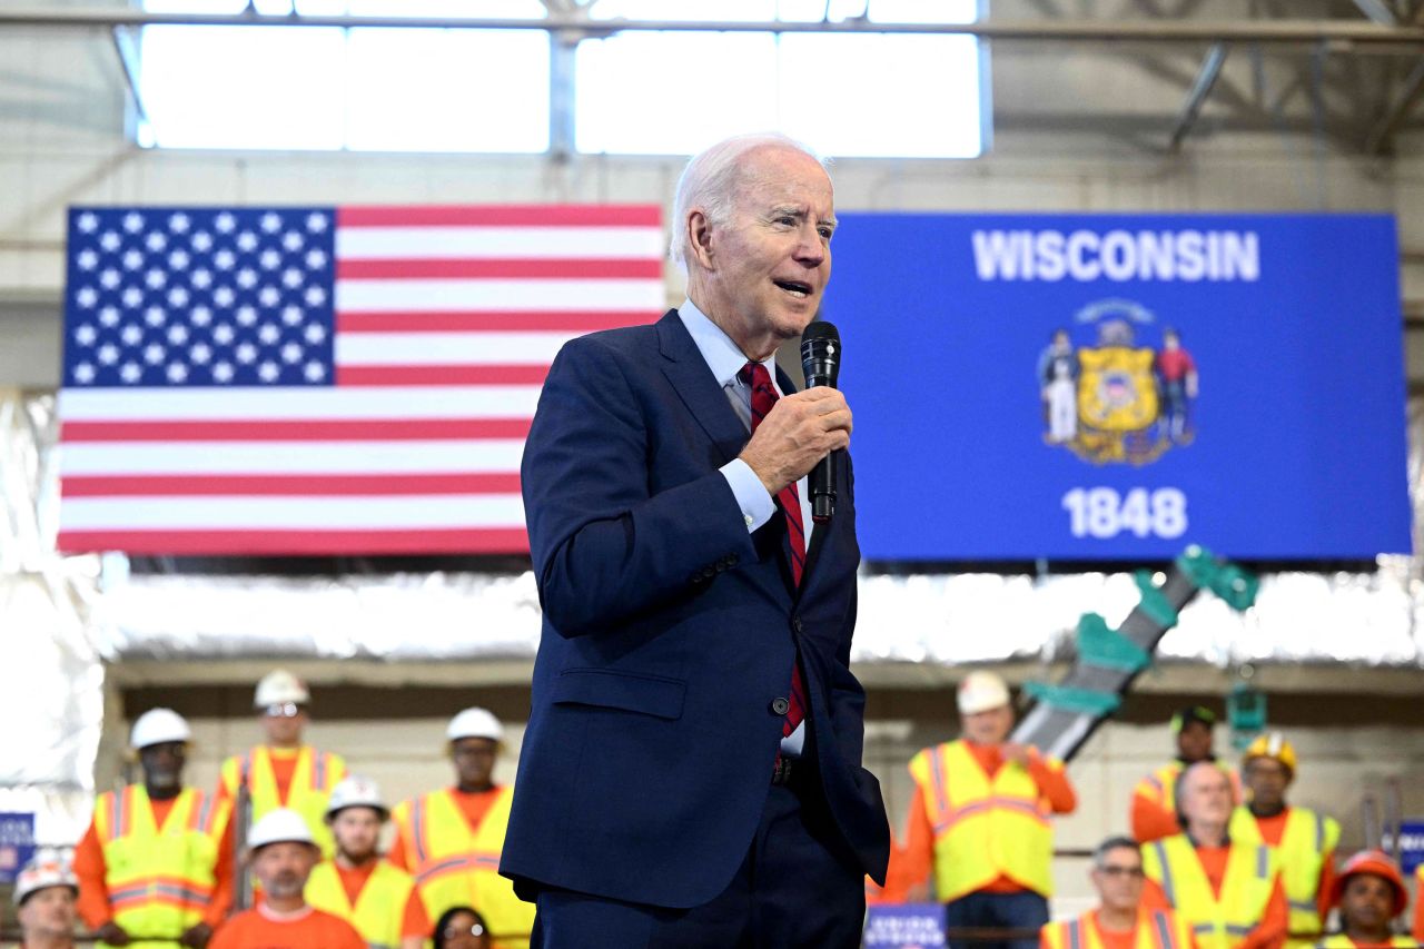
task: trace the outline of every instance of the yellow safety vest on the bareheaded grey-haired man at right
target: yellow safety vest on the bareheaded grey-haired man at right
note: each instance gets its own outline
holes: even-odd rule
[[[1143,845],[1142,869],[1192,926],[1199,949],[1230,949],[1265,918],[1280,864],[1265,844],[1233,841],[1219,901],[1186,834]]]

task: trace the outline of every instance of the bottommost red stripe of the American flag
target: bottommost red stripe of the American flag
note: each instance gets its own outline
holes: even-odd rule
[[[450,530],[61,530],[67,553],[434,554],[528,553],[523,527]]]

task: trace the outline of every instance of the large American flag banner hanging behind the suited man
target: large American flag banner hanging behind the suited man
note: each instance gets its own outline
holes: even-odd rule
[[[548,365],[662,254],[656,205],[73,208],[58,547],[524,553]]]

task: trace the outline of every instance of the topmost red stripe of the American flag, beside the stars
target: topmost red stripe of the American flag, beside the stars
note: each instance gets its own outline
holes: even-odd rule
[[[662,227],[662,208],[655,204],[506,204],[483,207],[375,205],[337,208],[336,225],[342,228],[655,228]]]

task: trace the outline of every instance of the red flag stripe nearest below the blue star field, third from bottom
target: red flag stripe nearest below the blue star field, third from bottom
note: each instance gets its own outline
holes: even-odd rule
[[[389,442],[523,439],[528,419],[64,422],[61,442]]]

